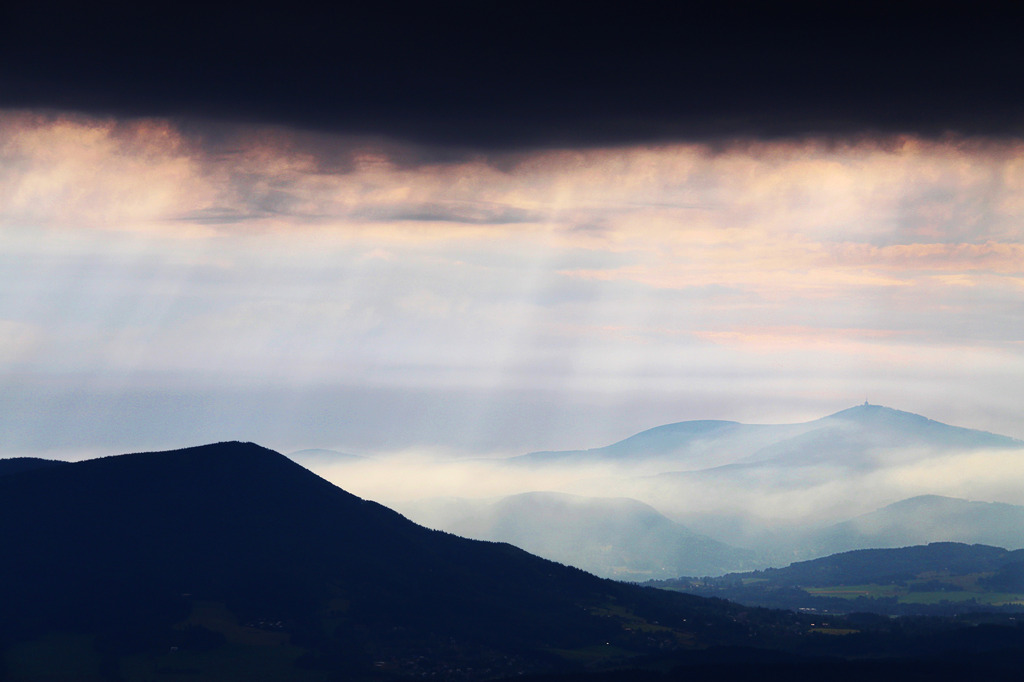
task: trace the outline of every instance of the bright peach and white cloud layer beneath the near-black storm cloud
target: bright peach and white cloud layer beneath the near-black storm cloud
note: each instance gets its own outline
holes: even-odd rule
[[[439,157],[9,111],[0,372],[702,406],[608,436],[869,397],[1021,436],[1022,197],[1024,145],[974,138]]]

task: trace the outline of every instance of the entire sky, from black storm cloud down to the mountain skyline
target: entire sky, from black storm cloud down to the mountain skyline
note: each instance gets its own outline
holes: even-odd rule
[[[0,456],[1024,438],[1021,12],[432,7],[5,9]]]

